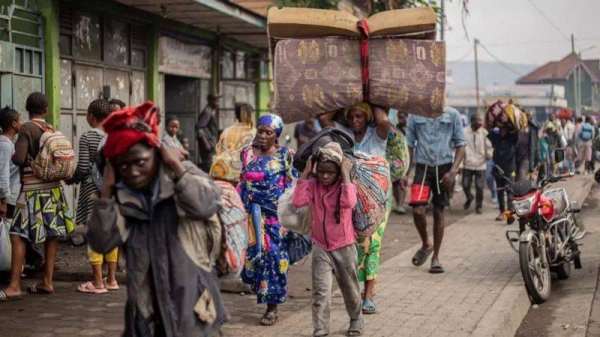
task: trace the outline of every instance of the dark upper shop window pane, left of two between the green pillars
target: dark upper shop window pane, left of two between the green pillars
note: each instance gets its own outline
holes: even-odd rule
[[[100,17],[76,13],[73,31],[73,54],[90,60],[102,59],[102,27]]]

